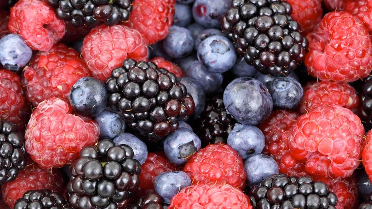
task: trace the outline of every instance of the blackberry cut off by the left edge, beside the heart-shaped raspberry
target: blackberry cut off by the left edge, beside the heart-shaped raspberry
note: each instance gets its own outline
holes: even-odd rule
[[[13,181],[26,166],[25,140],[12,122],[0,119],[0,184]]]

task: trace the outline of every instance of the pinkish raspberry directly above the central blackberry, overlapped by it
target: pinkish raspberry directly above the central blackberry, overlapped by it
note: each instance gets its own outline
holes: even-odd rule
[[[81,47],[93,76],[104,81],[126,58],[148,60],[148,49],[137,30],[124,25],[100,25],[85,36]]]

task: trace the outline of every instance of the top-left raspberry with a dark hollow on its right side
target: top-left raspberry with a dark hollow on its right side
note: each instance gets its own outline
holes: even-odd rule
[[[22,36],[32,50],[47,51],[65,35],[65,22],[40,0],[19,0],[10,9],[8,27]]]

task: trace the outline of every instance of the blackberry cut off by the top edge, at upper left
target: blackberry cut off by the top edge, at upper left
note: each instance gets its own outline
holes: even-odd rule
[[[57,17],[70,21],[75,27],[116,25],[127,21],[134,0],[47,0]]]

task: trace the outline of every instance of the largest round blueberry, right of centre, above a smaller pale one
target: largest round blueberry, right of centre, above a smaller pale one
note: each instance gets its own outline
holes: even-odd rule
[[[227,85],[224,105],[232,117],[244,125],[259,124],[273,109],[269,90],[251,77],[236,78]]]

